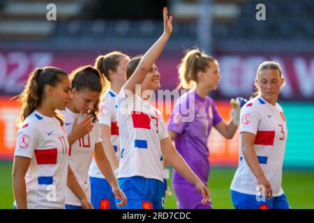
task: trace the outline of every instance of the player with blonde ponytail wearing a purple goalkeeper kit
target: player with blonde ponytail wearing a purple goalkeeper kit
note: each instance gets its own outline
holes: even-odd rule
[[[207,185],[209,178],[209,148],[207,139],[214,126],[226,139],[232,139],[239,123],[239,100],[232,100],[232,121],[225,123],[221,118],[214,100],[208,94],[216,90],[220,79],[219,66],[216,59],[192,49],[186,53],[179,66],[179,78],[188,93],[181,95],[168,123],[170,139],[174,139],[177,151],[184,157],[190,168]],[[182,109],[187,107],[187,111]],[[186,114],[188,112],[188,114]],[[184,116],[193,114],[190,121]],[[211,202],[205,206],[200,203],[201,195],[194,185],[174,170],[172,186],[177,195],[179,209],[212,208]]]

